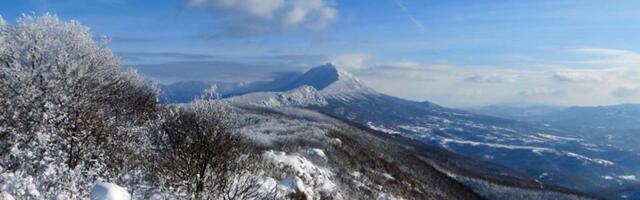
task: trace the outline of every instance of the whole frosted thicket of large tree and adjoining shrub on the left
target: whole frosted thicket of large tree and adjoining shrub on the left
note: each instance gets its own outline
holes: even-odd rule
[[[86,199],[106,182],[134,199],[277,197],[223,106],[158,104],[78,22],[0,20],[0,80],[0,197]]]

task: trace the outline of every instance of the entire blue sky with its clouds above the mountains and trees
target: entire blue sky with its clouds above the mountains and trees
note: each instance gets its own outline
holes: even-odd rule
[[[4,0],[78,20],[162,83],[334,62],[447,106],[640,103],[640,1]]]

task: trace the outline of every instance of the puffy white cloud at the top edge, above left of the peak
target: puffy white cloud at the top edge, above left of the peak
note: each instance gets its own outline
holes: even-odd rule
[[[234,36],[297,29],[320,30],[338,17],[328,0],[186,0],[189,8],[211,9],[224,17]]]

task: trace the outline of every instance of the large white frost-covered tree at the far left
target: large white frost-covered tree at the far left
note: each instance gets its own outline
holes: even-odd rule
[[[44,196],[81,195],[64,184],[123,168],[114,150],[155,115],[153,88],[87,27],[50,14],[0,27],[0,80],[0,168],[35,177]]]

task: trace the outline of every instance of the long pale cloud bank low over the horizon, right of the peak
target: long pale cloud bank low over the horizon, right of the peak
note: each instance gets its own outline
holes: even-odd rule
[[[640,103],[640,65],[630,65],[633,63],[630,58],[637,53],[613,49],[570,51],[589,56],[571,62],[547,60],[531,63],[535,66],[554,65],[537,68],[388,62],[363,67],[355,75],[381,92],[417,101],[434,101],[445,106]],[[595,67],[593,60],[607,64]]]

